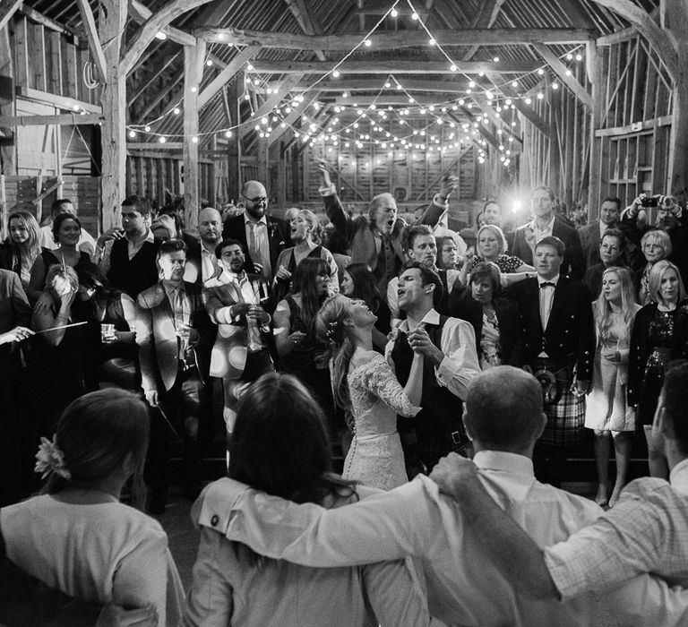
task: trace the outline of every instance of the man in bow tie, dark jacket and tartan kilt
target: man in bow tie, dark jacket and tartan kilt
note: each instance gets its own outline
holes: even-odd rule
[[[595,355],[595,328],[588,288],[560,274],[564,245],[546,236],[535,245],[538,276],[514,285],[520,307],[525,364],[543,386],[547,425],[536,445],[540,481],[560,486],[567,451],[581,442],[585,394]]]

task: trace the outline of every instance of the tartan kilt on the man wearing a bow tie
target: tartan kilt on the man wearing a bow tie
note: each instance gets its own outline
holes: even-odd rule
[[[575,446],[583,441],[585,430],[585,396],[576,396],[571,391],[574,380],[575,361],[538,357],[537,370],[546,369],[555,374],[555,404],[545,404],[547,417],[545,431],[538,443],[546,446]]]

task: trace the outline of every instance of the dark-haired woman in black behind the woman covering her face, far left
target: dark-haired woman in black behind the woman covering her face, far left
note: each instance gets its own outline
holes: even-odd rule
[[[29,291],[27,296],[36,302],[47,285],[47,269],[52,265],[63,265],[75,268],[79,263],[90,262],[89,253],[80,251],[79,238],[82,236],[82,223],[73,213],[59,213],[53,220],[53,237],[57,248],[53,251],[44,248],[36,257],[31,267]],[[45,309],[47,302],[41,303]]]

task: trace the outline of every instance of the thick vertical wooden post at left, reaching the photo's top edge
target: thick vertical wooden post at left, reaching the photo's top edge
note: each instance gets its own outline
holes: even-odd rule
[[[126,3],[102,0],[99,39],[107,41],[103,50],[107,80],[100,95],[105,121],[102,126],[103,167],[100,197],[101,228],[119,225],[119,207],[124,200],[126,176],[126,73],[120,69],[119,53],[126,23]]]

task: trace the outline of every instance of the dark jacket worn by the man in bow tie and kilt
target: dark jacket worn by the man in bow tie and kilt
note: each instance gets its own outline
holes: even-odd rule
[[[540,322],[539,289],[538,279],[525,279],[507,292],[519,305],[523,363],[533,367],[543,350],[553,359],[572,356],[578,378],[590,381],[597,340],[588,288],[581,281],[560,275],[545,331]]]

